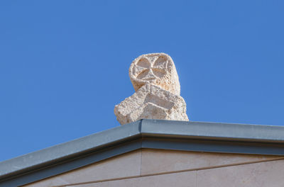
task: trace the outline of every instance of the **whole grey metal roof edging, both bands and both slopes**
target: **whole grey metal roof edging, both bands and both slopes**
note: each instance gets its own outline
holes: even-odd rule
[[[138,120],[0,162],[0,186],[20,186],[141,148],[284,155],[284,127]]]

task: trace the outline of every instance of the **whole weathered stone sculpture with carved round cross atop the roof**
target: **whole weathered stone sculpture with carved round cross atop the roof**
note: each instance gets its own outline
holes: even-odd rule
[[[169,55],[141,55],[131,63],[129,77],[136,93],[114,107],[121,125],[141,119],[188,121],[178,73]]]

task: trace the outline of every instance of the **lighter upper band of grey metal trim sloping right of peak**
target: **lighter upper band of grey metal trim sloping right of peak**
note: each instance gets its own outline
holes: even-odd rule
[[[272,125],[143,120],[141,133],[160,137],[284,143],[284,127]]]

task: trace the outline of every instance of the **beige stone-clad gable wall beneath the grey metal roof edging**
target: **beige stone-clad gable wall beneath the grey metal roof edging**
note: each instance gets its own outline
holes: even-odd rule
[[[140,149],[35,186],[284,186],[284,157]]]

